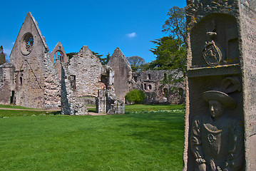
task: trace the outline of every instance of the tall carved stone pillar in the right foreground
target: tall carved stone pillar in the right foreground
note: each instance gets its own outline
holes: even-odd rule
[[[187,0],[188,77],[183,170],[249,171],[256,168],[253,147],[256,98],[252,93],[256,80],[255,18],[255,1]],[[212,103],[209,102],[209,111],[208,103],[203,100],[203,93],[209,90],[224,92],[235,100],[236,107],[227,108],[220,121],[213,116]]]

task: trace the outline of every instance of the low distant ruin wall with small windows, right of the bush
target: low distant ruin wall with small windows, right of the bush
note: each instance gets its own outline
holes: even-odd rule
[[[133,72],[130,90],[143,90],[147,95],[145,103],[180,104],[184,102],[184,89],[182,83],[174,85],[163,84],[163,78],[171,71],[138,71]],[[180,75],[181,76],[181,75]],[[176,90],[171,88],[175,87]]]

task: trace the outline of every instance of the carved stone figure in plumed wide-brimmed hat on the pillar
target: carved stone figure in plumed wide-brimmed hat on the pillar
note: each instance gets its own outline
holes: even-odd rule
[[[241,90],[235,76],[222,80],[219,90],[208,90],[203,98],[208,102],[210,115],[193,120],[190,144],[195,157],[195,170],[240,170],[244,161],[243,125],[228,118],[225,109],[233,110],[235,100],[227,93]]]

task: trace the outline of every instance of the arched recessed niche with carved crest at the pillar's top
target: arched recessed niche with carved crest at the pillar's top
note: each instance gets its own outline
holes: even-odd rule
[[[228,14],[209,14],[191,30],[190,68],[239,63],[237,21]]]

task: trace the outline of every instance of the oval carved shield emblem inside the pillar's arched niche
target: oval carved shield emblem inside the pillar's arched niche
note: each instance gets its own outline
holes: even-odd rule
[[[214,41],[206,42],[203,49],[203,57],[209,66],[217,66],[222,60],[220,48],[215,45]]]

